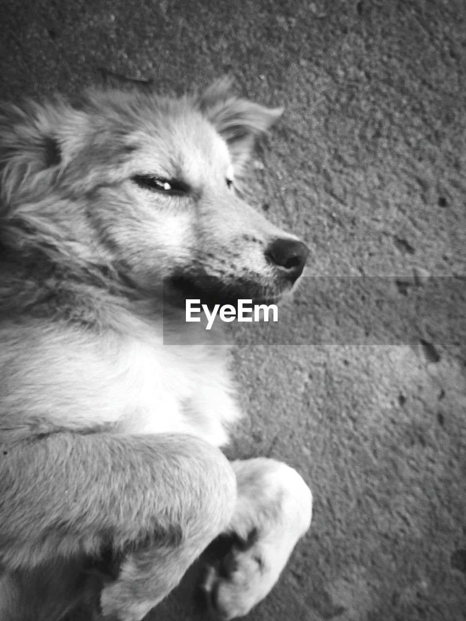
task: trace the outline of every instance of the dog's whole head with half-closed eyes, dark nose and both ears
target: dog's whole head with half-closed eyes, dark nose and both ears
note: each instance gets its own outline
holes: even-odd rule
[[[80,261],[184,297],[274,301],[308,255],[235,189],[254,137],[280,116],[229,94],[89,93],[9,109],[0,125],[2,217]]]

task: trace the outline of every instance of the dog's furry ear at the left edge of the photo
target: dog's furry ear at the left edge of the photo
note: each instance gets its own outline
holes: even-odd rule
[[[55,119],[56,120],[56,119]],[[5,205],[29,196],[37,199],[40,187],[50,186],[62,162],[54,137],[54,119],[42,107],[25,102],[22,107],[0,109],[0,192]],[[44,178],[48,183],[44,184]]]

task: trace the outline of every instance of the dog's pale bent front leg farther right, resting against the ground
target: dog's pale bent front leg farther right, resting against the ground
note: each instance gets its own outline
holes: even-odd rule
[[[264,458],[232,468],[238,497],[225,534],[239,543],[204,583],[211,615],[222,621],[247,614],[268,594],[312,517],[311,491],[293,468]]]

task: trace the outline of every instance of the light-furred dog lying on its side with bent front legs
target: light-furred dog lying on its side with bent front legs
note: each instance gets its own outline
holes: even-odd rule
[[[308,530],[294,469],[219,448],[240,415],[227,356],[183,314],[278,301],[301,276],[306,245],[241,195],[281,112],[228,79],[2,107],[2,621],[83,603],[139,621],[219,535],[235,543],[203,589],[213,618],[239,617]]]

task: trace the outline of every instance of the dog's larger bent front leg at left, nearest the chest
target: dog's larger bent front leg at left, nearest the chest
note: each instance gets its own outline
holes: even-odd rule
[[[51,612],[44,593],[73,596],[85,586],[74,566],[111,550],[121,562],[98,619],[139,621],[234,512],[230,463],[189,435],[53,433],[0,457],[2,620],[58,619],[62,602]]]

